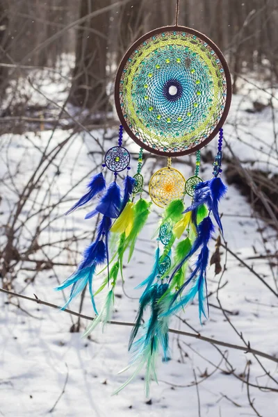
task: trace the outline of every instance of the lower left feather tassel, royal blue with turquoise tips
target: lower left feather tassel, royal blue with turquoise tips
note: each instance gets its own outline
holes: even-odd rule
[[[76,272],[74,272],[74,274],[67,278],[63,282],[63,284],[61,284],[57,288],[54,288],[56,291],[60,291],[72,285],[70,298],[62,307],[62,310],[66,309],[70,302],[72,302],[72,300],[83,291],[87,284],[89,284],[92,306],[95,310],[95,313],[97,314],[95,300],[92,294],[92,278],[95,275],[97,265],[101,265],[101,263],[104,263],[105,260],[106,246],[103,240],[96,240],[94,243],[91,243],[91,245],[86,248],[83,254],[83,260],[81,261]]]

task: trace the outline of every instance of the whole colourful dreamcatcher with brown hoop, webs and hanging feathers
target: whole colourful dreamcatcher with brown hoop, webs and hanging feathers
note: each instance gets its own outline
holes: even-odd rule
[[[124,55],[115,79],[115,105],[120,118],[118,145],[106,153],[103,170],[114,172],[106,187],[103,172],[95,175],[86,193],[68,213],[101,195],[95,209],[86,215],[101,220],[93,242],[84,252],[76,272],[58,289],[71,286],[65,308],[88,284],[97,314],[85,335],[111,318],[117,277],[123,278],[123,260],[130,261],[136,239],[142,231],[152,204],[163,208],[157,231],[154,266],[138,288],[143,288],[136,322],[129,340],[135,372],[116,392],[146,366],[145,384],[156,379],[155,363],[162,347],[163,361],[170,359],[168,322],[197,295],[199,319],[208,316],[206,267],[208,243],[215,226],[222,231],[218,203],[227,188],[220,179],[222,125],[231,103],[231,78],[218,47],[191,28],[165,26],[137,40]],[[137,172],[129,176],[130,156],[122,146],[123,131],[140,146]],[[218,135],[218,152],[211,179],[199,177],[200,149]],[[165,156],[165,167],[149,181],[150,201],[142,197],[143,150]],[[172,167],[172,158],[196,155],[195,174],[185,179]],[[117,174],[126,172],[123,190]],[[188,207],[184,200],[191,198]],[[109,236],[117,236],[112,256]],[[115,241],[115,238],[112,238]],[[197,257],[197,259],[195,259]],[[194,259],[191,272],[188,263]],[[106,265],[107,276],[100,288],[92,290],[96,268]],[[106,302],[97,311],[95,295],[108,286]],[[149,318],[146,318],[149,311]],[[144,321],[142,320],[144,316]]]

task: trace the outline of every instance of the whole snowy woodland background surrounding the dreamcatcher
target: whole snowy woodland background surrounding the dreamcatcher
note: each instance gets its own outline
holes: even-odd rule
[[[154,417],[277,417],[278,0],[180,1],[179,24],[218,44],[234,90],[210,320],[200,326],[193,304],[172,322],[191,336],[172,335],[173,360],[160,366],[151,399],[142,375],[111,398],[126,379],[117,372],[126,366],[129,327],[81,339],[88,320],[80,314],[92,315],[86,291],[71,306],[77,316],[55,310],[68,294],[52,288],[93,238],[85,212],[64,213],[117,140],[117,65],[140,35],[174,24],[175,7],[175,0],[0,0],[1,416],[102,417],[111,409],[145,416],[152,407]],[[124,143],[135,170],[138,147]],[[202,150],[206,179],[215,149],[212,142]],[[146,192],[149,175],[164,165],[144,154]],[[194,156],[177,163],[188,176],[194,165]],[[115,320],[135,317],[134,287],[152,268],[157,215],[117,287]]]

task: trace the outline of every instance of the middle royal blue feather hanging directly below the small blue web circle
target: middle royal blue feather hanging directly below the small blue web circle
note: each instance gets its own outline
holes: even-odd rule
[[[116,181],[113,181],[108,187],[105,195],[101,198],[95,210],[85,216],[90,219],[97,213],[106,215],[108,218],[117,218],[120,213],[121,206],[121,190]]]

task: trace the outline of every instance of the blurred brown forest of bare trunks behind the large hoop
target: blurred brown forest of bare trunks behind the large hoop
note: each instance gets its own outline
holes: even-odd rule
[[[116,65],[124,51],[143,33],[174,24],[175,0],[0,0],[0,97],[12,81],[43,69],[44,77],[61,72],[63,56],[71,82],[67,101],[92,113],[111,109]],[[234,76],[251,72],[268,79],[278,77],[277,0],[181,1],[179,24],[202,31],[226,56]],[[16,83],[13,84],[16,88]],[[38,86],[38,85],[37,85]],[[8,117],[31,117],[28,94],[10,95],[1,108],[1,131],[10,128]],[[104,116],[102,114],[102,116]],[[43,119],[43,112],[40,115]],[[17,124],[19,119],[16,120]],[[35,122],[35,120],[33,120]],[[14,125],[14,123],[13,123]]]

